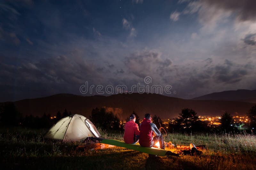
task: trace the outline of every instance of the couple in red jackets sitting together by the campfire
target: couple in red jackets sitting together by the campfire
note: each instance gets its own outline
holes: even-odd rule
[[[140,130],[135,121],[136,116],[132,114],[129,121],[124,125],[125,143],[136,144],[139,141],[140,146],[151,148],[159,141],[160,148],[165,148],[163,136],[156,125],[151,122],[150,114],[145,115],[144,120],[140,123]],[[153,137],[154,133],[156,134],[155,137]]]

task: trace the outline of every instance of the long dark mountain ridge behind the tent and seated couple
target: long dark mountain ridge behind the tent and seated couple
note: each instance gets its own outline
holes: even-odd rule
[[[2,103],[4,104],[4,103]],[[135,111],[141,118],[145,113],[159,115],[162,119],[177,117],[181,109],[194,109],[198,115],[219,116],[227,111],[230,114],[244,115],[253,106],[241,101],[185,100],[160,94],[115,94],[111,96],[79,96],[56,94],[53,96],[25,99],[14,102],[23,115],[42,116],[44,113],[56,115],[65,108],[72,113],[89,117],[95,107],[106,107],[122,120]]]

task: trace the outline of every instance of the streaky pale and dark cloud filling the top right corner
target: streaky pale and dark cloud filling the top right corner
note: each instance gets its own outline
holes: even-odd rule
[[[256,1],[253,0],[198,0],[179,1],[178,4],[189,2],[182,14],[198,12],[198,20],[203,24],[202,30],[212,32],[217,23],[225,22],[226,19],[236,16],[237,21],[256,20]]]

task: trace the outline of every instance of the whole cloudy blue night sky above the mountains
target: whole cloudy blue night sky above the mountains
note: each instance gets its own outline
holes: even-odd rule
[[[0,102],[79,87],[256,89],[255,0],[1,1]]]

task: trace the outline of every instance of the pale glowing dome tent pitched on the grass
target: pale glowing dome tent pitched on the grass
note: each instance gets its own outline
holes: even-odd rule
[[[60,119],[44,135],[44,138],[63,142],[81,141],[86,137],[100,137],[100,133],[89,119],[78,114]]]

